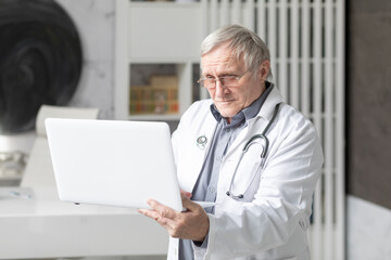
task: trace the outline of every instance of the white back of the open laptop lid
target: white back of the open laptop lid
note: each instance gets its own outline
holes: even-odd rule
[[[167,123],[48,118],[46,129],[61,200],[182,210]]]

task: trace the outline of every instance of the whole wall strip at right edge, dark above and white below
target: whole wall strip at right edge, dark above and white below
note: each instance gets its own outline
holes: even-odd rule
[[[391,1],[346,3],[346,259],[390,259]]]

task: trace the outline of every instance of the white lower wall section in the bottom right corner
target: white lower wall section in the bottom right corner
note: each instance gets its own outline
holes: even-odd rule
[[[391,210],[348,196],[348,260],[391,259]]]

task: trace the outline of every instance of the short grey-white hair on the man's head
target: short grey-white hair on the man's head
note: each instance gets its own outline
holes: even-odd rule
[[[226,42],[229,42],[228,48],[238,61],[243,55],[247,68],[260,67],[264,61],[270,62],[270,52],[265,42],[254,31],[241,25],[228,25],[211,32],[201,43],[201,56]],[[272,68],[267,78],[273,78]]]

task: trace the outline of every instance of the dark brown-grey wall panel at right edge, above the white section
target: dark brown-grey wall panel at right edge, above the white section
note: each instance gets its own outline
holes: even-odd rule
[[[348,192],[391,209],[391,1],[349,1]]]

